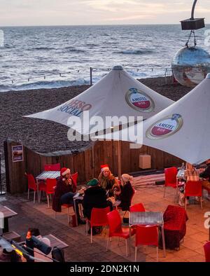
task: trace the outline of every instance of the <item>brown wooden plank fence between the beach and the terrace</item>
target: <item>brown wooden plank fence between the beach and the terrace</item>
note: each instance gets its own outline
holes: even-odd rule
[[[149,146],[142,146],[141,149],[130,149],[129,142],[120,142],[121,172],[137,172],[139,169],[139,154],[151,155],[151,168],[163,169],[173,165],[179,166],[183,162],[175,156],[165,153]],[[45,164],[60,163],[61,167],[69,167],[71,172],[78,172],[80,184],[98,177],[100,165],[109,164],[111,172],[118,175],[118,142],[92,142],[89,146],[80,149],[78,153],[71,151],[57,151],[54,153],[37,153],[26,146],[24,149],[24,160],[13,163],[12,146],[17,142],[6,141],[4,144],[6,158],[6,187],[10,193],[23,193],[27,191],[27,179],[25,172],[36,177],[43,172]]]

